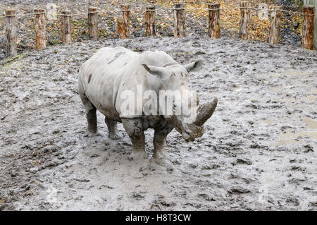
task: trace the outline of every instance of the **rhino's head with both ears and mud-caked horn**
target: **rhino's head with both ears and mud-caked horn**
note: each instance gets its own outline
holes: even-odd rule
[[[218,99],[216,98],[213,98],[209,103],[199,106],[198,96],[193,96],[193,92],[189,90],[189,72],[197,71],[203,64],[203,61],[200,59],[185,66],[176,62],[167,63],[163,66],[142,64],[149,73],[159,78],[159,82],[157,82],[159,83],[159,90],[164,90],[166,93],[172,91],[166,94],[166,97],[173,99],[173,113],[163,114],[163,116],[186,141],[194,140],[204,134],[204,123],[212,116],[213,111],[217,107]],[[175,91],[181,93],[181,100],[175,98]],[[183,110],[181,113],[179,110],[176,110],[184,109],[184,107],[188,109],[186,114]],[[193,114],[193,112],[195,113]]]

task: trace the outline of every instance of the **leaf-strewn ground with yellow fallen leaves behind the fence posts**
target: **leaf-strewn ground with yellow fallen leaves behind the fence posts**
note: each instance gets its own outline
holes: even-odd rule
[[[126,1],[125,1],[126,2]],[[253,4],[249,4],[251,13],[249,21],[249,34],[248,39],[261,39],[267,40],[271,30],[271,21],[269,15],[264,15],[267,18],[259,18],[259,11],[270,14],[271,11],[267,9],[259,8],[257,1],[252,1]],[[144,13],[146,11],[147,3],[149,1],[132,1],[130,6],[130,18],[129,18],[129,32],[130,37],[138,37],[145,35],[144,29]],[[238,1],[220,1],[220,27],[225,30],[229,35],[237,35],[241,28],[241,9]],[[270,1],[268,1],[268,4]],[[118,1],[95,1],[90,6],[96,6],[98,9],[98,37],[99,38],[111,38],[116,37],[116,30],[118,29],[118,18],[122,13],[120,3]],[[261,6],[261,5],[260,5]],[[45,8],[46,6],[38,6]],[[156,36],[172,36],[174,35],[174,4],[173,1],[156,1],[156,15],[155,26]],[[210,18],[208,6],[201,1],[189,1],[183,6],[186,8],[186,32],[188,35],[192,33],[198,33],[199,35],[210,35]],[[82,39],[89,39],[89,25],[87,21],[87,9],[85,7],[78,6],[74,8],[67,4],[61,4],[58,6],[58,17],[61,16],[63,9],[70,9],[70,27],[71,36],[73,41],[80,41]],[[16,10],[17,15],[17,29],[18,29],[18,46],[20,47],[35,47],[35,15],[32,11],[33,8],[28,8],[27,11]],[[297,20],[297,25],[294,26],[293,32],[301,35],[302,21],[304,20],[302,12],[281,11],[283,16],[280,20],[280,25],[286,25],[285,20],[287,16],[292,16],[292,19]],[[4,19],[0,18],[1,27],[4,30]],[[198,26],[197,26],[198,25]],[[46,39],[48,44],[61,43],[61,19],[46,20]],[[24,28],[24,29],[21,29]],[[4,36],[4,32],[1,32]],[[26,37],[26,38],[25,38]],[[31,37],[27,39],[27,37]],[[31,39],[31,40],[30,40]]]

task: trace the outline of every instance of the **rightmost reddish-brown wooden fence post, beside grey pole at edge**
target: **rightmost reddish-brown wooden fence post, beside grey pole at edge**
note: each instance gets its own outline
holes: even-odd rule
[[[302,47],[313,50],[313,21],[315,20],[315,6],[303,6],[304,25]]]

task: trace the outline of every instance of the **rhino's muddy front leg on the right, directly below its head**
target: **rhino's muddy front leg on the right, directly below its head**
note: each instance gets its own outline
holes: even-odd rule
[[[154,154],[153,157],[156,159],[163,159],[168,154],[165,149],[166,137],[170,131],[173,130],[173,126],[166,123],[163,128],[157,128],[154,132]]]

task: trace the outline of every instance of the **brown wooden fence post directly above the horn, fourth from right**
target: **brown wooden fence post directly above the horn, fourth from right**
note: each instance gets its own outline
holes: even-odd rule
[[[208,4],[209,37],[220,38],[220,3]]]

